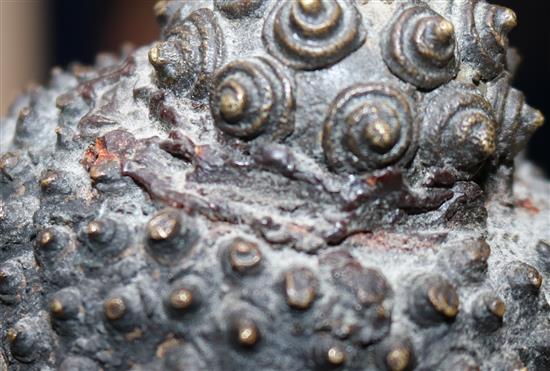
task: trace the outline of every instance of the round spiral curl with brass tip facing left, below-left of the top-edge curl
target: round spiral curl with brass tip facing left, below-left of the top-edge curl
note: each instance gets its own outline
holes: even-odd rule
[[[210,109],[218,129],[241,139],[260,134],[281,139],[294,129],[292,84],[280,67],[263,57],[235,60],[219,70]]]

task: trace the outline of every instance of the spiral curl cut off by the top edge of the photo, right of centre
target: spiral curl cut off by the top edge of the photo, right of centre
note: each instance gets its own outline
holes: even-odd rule
[[[365,38],[361,15],[347,1],[281,1],[263,29],[269,52],[302,70],[320,69],[342,60]]]

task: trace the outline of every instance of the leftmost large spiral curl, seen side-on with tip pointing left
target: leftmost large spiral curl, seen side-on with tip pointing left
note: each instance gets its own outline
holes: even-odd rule
[[[223,35],[210,9],[198,9],[183,21],[173,20],[165,41],[149,51],[149,61],[162,85],[202,99],[210,79],[223,63]]]

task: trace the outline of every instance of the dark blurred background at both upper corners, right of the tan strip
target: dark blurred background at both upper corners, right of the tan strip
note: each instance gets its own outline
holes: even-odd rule
[[[135,45],[156,39],[154,0],[49,0],[51,65],[92,63],[99,51],[117,51],[125,41]],[[550,121],[550,1],[498,0],[514,9],[519,26],[510,34],[523,62],[515,86]],[[550,123],[534,135],[528,156],[550,175]]]

